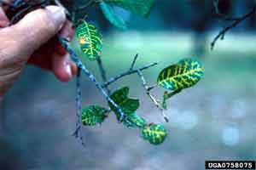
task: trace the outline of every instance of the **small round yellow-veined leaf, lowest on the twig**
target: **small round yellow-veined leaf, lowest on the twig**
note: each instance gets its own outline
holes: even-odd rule
[[[167,136],[166,128],[160,124],[151,124],[143,128],[143,139],[150,144],[161,144]]]

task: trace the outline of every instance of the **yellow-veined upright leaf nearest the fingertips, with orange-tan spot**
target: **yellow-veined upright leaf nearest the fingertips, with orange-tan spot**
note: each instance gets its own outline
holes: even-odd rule
[[[77,41],[84,54],[90,60],[96,60],[102,54],[102,34],[96,26],[80,21],[75,29]]]

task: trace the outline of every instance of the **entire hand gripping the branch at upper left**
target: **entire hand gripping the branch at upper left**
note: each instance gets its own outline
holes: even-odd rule
[[[0,8],[0,98],[26,64],[52,71],[62,82],[76,74],[76,65],[55,37],[57,32],[69,39],[73,35],[62,8],[34,10],[14,26],[9,26],[9,19]]]

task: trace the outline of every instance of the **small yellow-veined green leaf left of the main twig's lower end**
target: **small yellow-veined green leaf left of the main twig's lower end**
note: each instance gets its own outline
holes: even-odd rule
[[[95,126],[97,123],[102,123],[107,117],[107,109],[99,105],[90,105],[82,111],[82,123],[85,126]]]

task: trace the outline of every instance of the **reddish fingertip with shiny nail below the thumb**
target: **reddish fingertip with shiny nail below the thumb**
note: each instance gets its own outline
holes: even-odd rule
[[[68,82],[72,77],[72,65],[68,54],[64,57],[59,54],[55,54],[52,58],[52,70],[61,82]]]

